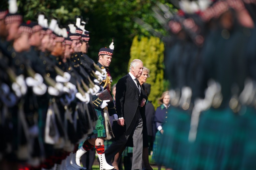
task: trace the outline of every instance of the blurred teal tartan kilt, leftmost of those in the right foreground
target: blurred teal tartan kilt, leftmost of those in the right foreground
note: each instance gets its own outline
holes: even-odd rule
[[[156,139],[153,146],[153,157],[159,165],[166,168],[182,169],[187,165],[187,156],[189,152],[188,133],[190,128],[189,111],[171,107],[168,109],[166,122],[162,125],[163,134]],[[161,134],[160,132],[157,132]]]

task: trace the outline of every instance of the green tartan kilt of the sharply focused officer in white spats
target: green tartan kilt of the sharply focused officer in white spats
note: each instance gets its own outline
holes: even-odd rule
[[[95,112],[97,113],[98,120],[96,121],[95,127],[93,127],[93,132],[88,135],[88,139],[98,138],[98,137],[106,137],[106,128],[105,128],[105,118],[104,118],[104,112],[101,109],[95,109]]]

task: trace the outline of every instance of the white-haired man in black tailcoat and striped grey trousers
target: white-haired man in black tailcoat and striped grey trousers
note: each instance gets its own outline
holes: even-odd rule
[[[120,148],[125,146],[127,140],[133,137],[132,170],[142,169],[142,119],[140,107],[145,105],[146,100],[142,99],[141,86],[137,80],[142,73],[142,69],[142,61],[134,59],[130,65],[130,72],[117,82],[116,110],[118,124],[115,123],[116,126],[114,126],[113,123],[114,129],[112,129],[116,138],[114,143],[105,151],[106,161],[109,163]]]

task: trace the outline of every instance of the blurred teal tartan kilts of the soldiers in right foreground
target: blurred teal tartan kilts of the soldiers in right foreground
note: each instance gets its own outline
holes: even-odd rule
[[[229,107],[202,112],[194,142],[188,141],[190,117],[177,108],[168,112],[164,133],[155,139],[152,157],[156,163],[175,170],[256,169],[255,108],[242,106],[238,113]]]

